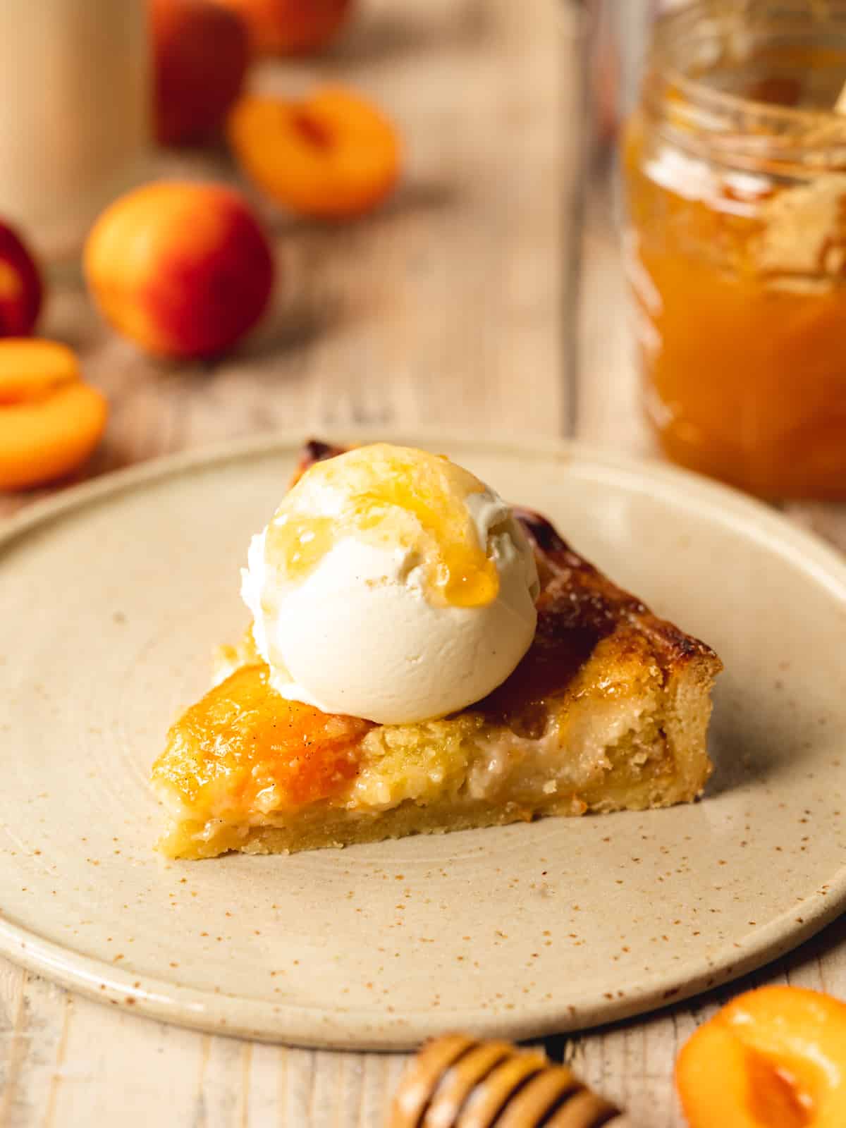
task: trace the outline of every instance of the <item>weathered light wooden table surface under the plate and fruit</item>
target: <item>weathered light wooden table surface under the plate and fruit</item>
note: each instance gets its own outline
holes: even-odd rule
[[[402,191],[380,213],[340,228],[266,212],[280,300],[238,355],[213,365],[151,362],[102,326],[81,284],[56,284],[43,332],[77,346],[112,400],[87,473],[229,435],[331,435],[349,424],[574,433],[647,453],[600,185],[588,193],[583,238],[574,237],[578,30],[552,0],[370,0],[318,63],[261,72],[256,81],[271,89],[319,77],[370,91],[402,125]],[[232,176],[222,159],[169,164]],[[580,244],[581,309],[567,319]],[[0,514],[32,499],[0,495]],[[788,512],[846,548],[843,510]],[[547,1046],[635,1123],[675,1128],[681,1042],[734,992],[785,980],[846,996],[846,922],[750,980]],[[0,961],[0,1128],[376,1128],[403,1063],[167,1026]]]

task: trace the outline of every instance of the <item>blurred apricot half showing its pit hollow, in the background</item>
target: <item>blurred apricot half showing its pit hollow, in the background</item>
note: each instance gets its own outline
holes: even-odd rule
[[[399,176],[396,130],[349,90],[324,89],[303,102],[248,95],[230,114],[228,134],[247,176],[303,215],[359,215]]]

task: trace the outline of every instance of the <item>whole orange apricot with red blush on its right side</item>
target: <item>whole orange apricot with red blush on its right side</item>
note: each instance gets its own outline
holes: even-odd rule
[[[85,247],[105,318],[160,356],[211,356],[264,312],[273,254],[244,197],[215,184],[160,182],[122,196]]]

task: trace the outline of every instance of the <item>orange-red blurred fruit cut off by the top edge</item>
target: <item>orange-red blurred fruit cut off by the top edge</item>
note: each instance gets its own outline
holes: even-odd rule
[[[307,54],[334,38],[352,0],[217,0],[244,17],[264,54]]]

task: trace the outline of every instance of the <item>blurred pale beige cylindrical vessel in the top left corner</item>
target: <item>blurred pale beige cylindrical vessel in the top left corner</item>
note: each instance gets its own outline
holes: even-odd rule
[[[0,217],[67,257],[146,171],[147,2],[3,0],[0,43]]]

